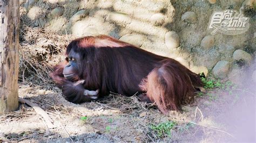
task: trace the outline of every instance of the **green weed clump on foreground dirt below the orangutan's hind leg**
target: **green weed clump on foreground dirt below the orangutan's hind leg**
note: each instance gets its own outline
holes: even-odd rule
[[[151,125],[150,128],[153,131],[157,132],[158,137],[164,137],[164,135],[171,137],[172,129],[175,125],[177,125],[175,121],[165,121],[165,122],[159,123],[158,125]]]

